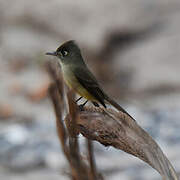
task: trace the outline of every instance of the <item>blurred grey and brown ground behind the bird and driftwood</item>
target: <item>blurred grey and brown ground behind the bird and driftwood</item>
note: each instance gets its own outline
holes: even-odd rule
[[[70,39],[180,174],[179,20],[179,0],[0,0],[0,179],[69,179],[44,63]],[[95,143],[95,157],[106,179],[160,179],[114,148]]]

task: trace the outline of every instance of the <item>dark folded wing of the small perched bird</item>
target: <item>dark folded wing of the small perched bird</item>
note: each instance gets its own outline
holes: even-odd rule
[[[104,107],[105,94],[100,88],[96,78],[93,74],[83,67],[77,67],[74,69],[74,75],[79,81],[79,83],[91,94],[93,95]]]

